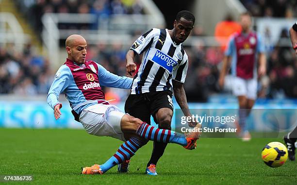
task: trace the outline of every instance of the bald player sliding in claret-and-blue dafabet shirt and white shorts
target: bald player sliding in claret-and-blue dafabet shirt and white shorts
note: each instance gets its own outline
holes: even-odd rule
[[[195,148],[197,138],[186,138],[183,134],[154,128],[109,104],[101,85],[129,88],[132,79],[112,74],[94,61],[85,61],[86,48],[87,43],[81,35],[70,35],[66,39],[68,56],[55,75],[47,101],[54,109],[55,118],[59,119],[62,103],[58,98],[61,92],[65,92],[75,120],[82,123],[87,133],[114,137],[125,143],[106,163],[83,168],[82,174],[103,174],[129,160],[146,140],[177,143],[189,150]],[[194,137],[195,133],[191,135]]]

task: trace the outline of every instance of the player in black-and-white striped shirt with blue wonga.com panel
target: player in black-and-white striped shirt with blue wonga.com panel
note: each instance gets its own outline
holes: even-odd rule
[[[174,20],[173,29],[152,28],[141,35],[127,52],[127,74],[136,71],[134,56],[141,55],[142,63],[134,76],[131,94],[125,103],[125,112],[150,123],[150,116],[159,129],[171,130],[173,116],[172,92],[185,116],[190,116],[183,89],[188,68],[188,56],[182,44],[191,33],[194,15],[181,11]],[[191,122],[190,126],[196,124]],[[165,151],[166,143],[154,142],[146,173],[157,175],[156,165]],[[120,172],[128,170],[129,161],[119,165]]]

